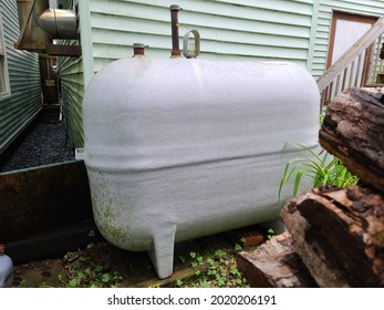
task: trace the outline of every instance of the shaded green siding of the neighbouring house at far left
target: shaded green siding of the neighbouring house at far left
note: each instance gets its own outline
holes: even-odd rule
[[[0,154],[41,110],[39,59],[37,54],[13,49],[19,38],[15,1],[0,1],[11,95],[0,100]]]

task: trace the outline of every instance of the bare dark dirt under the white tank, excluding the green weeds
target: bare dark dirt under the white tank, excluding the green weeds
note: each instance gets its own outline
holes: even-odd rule
[[[170,278],[158,279],[156,271],[152,265],[147,252],[131,252],[121,250],[106,241],[100,241],[91,245],[89,248],[72,251],[64,257],[56,259],[45,259],[40,261],[31,261],[24,265],[14,266],[14,288],[48,288],[48,287],[77,287],[73,265],[82,260],[86,265],[80,269],[84,272],[93,272],[92,277],[97,277],[95,271],[97,268],[108,275],[121,276],[117,287],[176,287],[178,281],[185,281],[196,276],[196,267],[191,267],[193,259],[190,254],[195,252],[205,259],[215,251],[227,251],[229,255],[226,259],[236,259],[236,252],[232,249],[241,244],[243,232],[260,231],[260,227],[238,229],[207,236],[175,245],[174,273]],[[242,250],[252,250],[255,246],[242,246]],[[84,258],[85,257],[85,258]],[[201,264],[199,269],[206,266]],[[91,271],[90,271],[91,270]],[[72,282],[71,282],[72,279]],[[77,283],[79,285],[79,283]],[[83,287],[86,283],[82,283]],[[112,281],[105,282],[111,287]],[[90,286],[92,283],[90,282]]]

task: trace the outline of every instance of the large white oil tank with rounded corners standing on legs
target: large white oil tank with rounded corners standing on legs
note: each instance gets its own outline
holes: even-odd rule
[[[278,219],[284,166],[300,156],[282,149],[318,147],[319,104],[313,78],[293,63],[139,56],[106,65],[83,102],[100,231],[149,251],[166,278],[175,242]]]

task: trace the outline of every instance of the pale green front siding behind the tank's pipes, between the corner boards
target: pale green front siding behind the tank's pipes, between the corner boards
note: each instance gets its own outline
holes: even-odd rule
[[[197,29],[201,59],[288,60],[307,65],[312,1],[176,1],[179,33]],[[172,0],[90,1],[94,71],[148,45],[148,56],[170,51]]]

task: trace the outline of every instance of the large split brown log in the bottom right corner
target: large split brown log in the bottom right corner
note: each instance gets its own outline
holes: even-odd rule
[[[281,210],[320,287],[384,286],[384,197],[372,188],[313,189]]]

